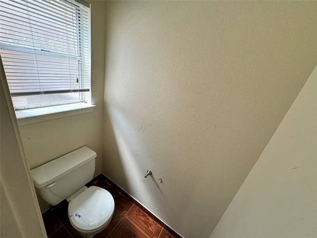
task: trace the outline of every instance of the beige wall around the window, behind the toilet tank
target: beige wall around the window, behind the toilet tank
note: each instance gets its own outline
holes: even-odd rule
[[[105,84],[105,2],[91,3],[93,113],[19,127],[30,168],[87,145],[97,152],[96,173],[102,168],[102,117]]]

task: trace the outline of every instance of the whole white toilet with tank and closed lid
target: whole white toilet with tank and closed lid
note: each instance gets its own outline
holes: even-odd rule
[[[93,179],[96,156],[84,146],[31,170],[35,189],[46,202],[69,202],[70,223],[84,238],[103,231],[114,212],[113,197],[106,189],[84,186]]]

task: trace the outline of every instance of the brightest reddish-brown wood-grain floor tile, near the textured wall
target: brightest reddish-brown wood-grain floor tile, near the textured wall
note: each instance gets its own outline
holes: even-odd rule
[[[135,204],[128,212],[128,219],[148,237],[158,237],[162,227]]]

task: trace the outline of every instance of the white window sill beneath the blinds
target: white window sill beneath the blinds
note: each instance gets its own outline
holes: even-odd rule
[[[69,116],[90,113],[96,105],[73,103],[44,108],[33,108],[15,111],[18,125],[27,125],[46,120],[65,118]]]

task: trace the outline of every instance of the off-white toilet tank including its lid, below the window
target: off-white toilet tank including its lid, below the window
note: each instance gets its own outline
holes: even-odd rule
[[[93,179],[96,156],[84,146],[31,170],[36,191],[49,204],[60,203]]]

